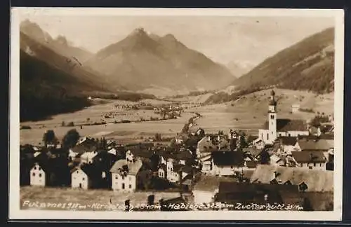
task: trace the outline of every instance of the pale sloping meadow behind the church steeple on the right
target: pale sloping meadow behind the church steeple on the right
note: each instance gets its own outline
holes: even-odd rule
[[[275,90],[277,97],[277,117],[290,119],[313,118],[317,112],[333,115],[333,93],[327,95],[314,95],[312,92],[296,90]],[[256,134],[267,119],[267,108],[270,90],[262,90],[245,95],[234,102],[223,104],[203,105],[194,109],[203,118],[197,120],[194,130],[204,128],[206,132],[227,132],[230,129],[244,130]],[[291,113],[291,105],[300,104],[301,109],[312,109],[312,112],[299,111]]]

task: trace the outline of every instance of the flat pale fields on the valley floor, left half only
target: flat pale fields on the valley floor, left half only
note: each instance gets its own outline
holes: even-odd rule
[[[69,114],[59,114],[51,119],[37,122],[23,122],[20,125],[28,125],[32,129],[20,130],[21,144],[39,144],[46,130],[55,131],[56,137],[62,139],[65,133],[75,128],[82,136],[105,137],[107,139],[124,139],[138,140],[145,137],[154,137],[155,133],[161,133],[162,137],[174,137],[177,132],[182,130],[183,126],[191,116],[190,112],[185,111],[180,118],[163,120],[163,121],[143,121],[135,123],[114,123],[114,121],[129,120],[138,121],[140,118],[150,119],[150,117],[159,117],[154,114],[153,110],[126,110],[117,109],[116,104],[136,104],[137,102],[122,102],[118,100],[101,100],[101,104],[95,104],[84,110]],[[166,103],[159,100],[143,100],[143,102],[152,102],[153,105]],[[104,118],[105,114],[113,113],[114,117]],[[89,118],[89,119],[88,119]],[[106,125],[84,125],[73,127],[62,127],[62,121],[65,124],[74,122],[74,125],[82,123],[100,122],[104,119]],[[89,121],[87,121],[89,120]],[[142,138],[143,137],[143,138]]]

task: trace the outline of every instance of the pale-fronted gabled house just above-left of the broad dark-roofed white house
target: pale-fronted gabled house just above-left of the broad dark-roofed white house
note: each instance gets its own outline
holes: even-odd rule
[[[201,158],[211,154],[213,151],[229,149],[229,142],[223,136],[207,135],[197,142],[197,157]]]

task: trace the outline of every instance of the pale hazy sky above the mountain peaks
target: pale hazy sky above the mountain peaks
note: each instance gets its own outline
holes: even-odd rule
[[[334,26],[333,18],[248,16],[26,15],[51,36],[64,35],[75,46],[96,53],[143,27],[173,34],[188,48],[215,62],[259,64],[286,47]]]

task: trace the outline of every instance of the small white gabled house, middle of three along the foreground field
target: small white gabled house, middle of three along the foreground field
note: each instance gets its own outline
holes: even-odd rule
[[[81,164],[71,170],[72,188],[99,188],[102,182],[102,171],[91,164]]]

